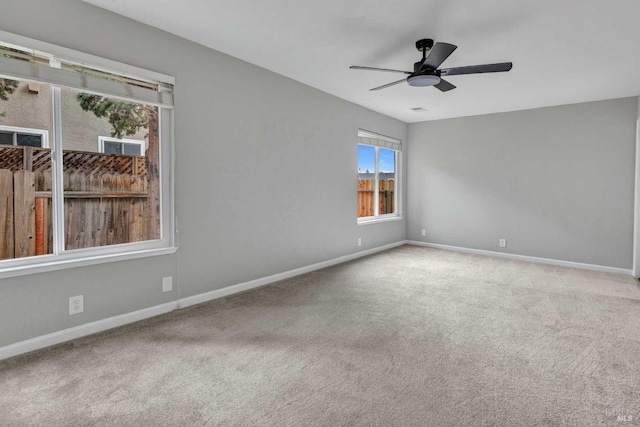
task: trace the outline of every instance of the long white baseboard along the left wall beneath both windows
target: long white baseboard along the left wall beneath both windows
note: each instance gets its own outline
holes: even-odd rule
[[[274,274],[272,276],[263,277],[249,282],[240,283],[233,286],[227,286],[222,289],[216,289],[214,291],[205,292],[200,295],[194,295],[192,297],[182,298],[176,301],[171,301],[165,304],[156,305],[153,307],[145,308],[131,313],[120,314],[118,316],[109,317],[107,319],[96,320],[95,322],[86,323],[84,325],[75,326],[73,328],[64,329],[62,331],[52,332],[47,335],[31,338],[25,341],[20,341],[14,344],[9,344],[4,347],[0,347],[0,360],[8,359],[9,357],[18,356],[20,354],[28,353],[30,351],[39,350],[45,347],[50,347],[55,344],[60,344],[66,341],[70,341],[76,338],[81,338],[87,335],[95,334],[97,332],[106,331],[108,329],[123,326],[128,323],[138,322],[140,320],[148,319],[150,317],[158,316],[160,314],[169,313],[173,310],[188,307],[195,304],[211,301],[217,298],[222,298],[228,295],[232,295],[238,292],[246,291],[249,289],[257,288],[260,286],[268,285],[269,283],[277,282],[284,279],[289,279],[294,276],[309,273],[321,268],[330,267],[332,265],[341,264],[343,262],[351,261],[357,258],[361,258],[367,255],[374,254],[376,252],[385,251],[387,249],[402,246],[406,241],[400,241],[391,243],[389,245],[380,246],[373,249],[368,249],[353,254],[341,256],[331,259],[329,261],[319,262],[317,264],[308,265],[306,267],[296,268],[294,270],[285,271],[283,273]]]

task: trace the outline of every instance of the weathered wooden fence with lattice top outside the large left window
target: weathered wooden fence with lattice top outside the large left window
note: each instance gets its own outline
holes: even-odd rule
[[[0,147],[0,259],[53,251],[50,155]],[[144,157],[78,151],[63,157],[66,249],[147,240]]]

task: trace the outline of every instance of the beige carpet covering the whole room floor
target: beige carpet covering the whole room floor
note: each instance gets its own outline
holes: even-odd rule
[[[635,280],[412,246],[0,362],[2,426],[639,421]]]

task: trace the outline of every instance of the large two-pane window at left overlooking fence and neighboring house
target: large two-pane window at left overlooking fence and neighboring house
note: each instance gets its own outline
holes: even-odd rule
[[[0,277],[174,250],[172,78],[32,42],[0,43]]]

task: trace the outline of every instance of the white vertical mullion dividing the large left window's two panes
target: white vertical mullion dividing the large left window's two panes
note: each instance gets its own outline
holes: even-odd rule
[[[64,174],[62,156],[62,90],[51,88],[51,201],[53,221],[53,253],[64,252]]]

